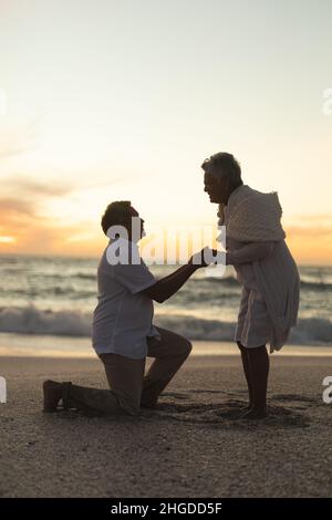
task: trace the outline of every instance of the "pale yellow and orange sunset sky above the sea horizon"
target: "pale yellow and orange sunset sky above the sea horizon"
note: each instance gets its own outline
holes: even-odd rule
[[[227,150],[331,263],[331,23],[330,0],[0,0],[0,252],[97,254],[116,199],[147,232],[215,223],[200,164]]]

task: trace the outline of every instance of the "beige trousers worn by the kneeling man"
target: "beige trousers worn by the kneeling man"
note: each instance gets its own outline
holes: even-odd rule
[[[191,351],[185,337],[157,327],[160,340],[147,337],[147,355],[154,361],[146,373],[146,358],[132,360],[118,354],[101,354],[111,391],[70,385],[64,406],[87,415],[139,414],[141,406],[154,407],[158,396]]]

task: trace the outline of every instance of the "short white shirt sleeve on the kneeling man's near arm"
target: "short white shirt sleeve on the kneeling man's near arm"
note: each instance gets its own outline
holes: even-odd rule
[[[115,280],[124,285],[132,294],[153,285],[156,282],[155,277],[147,269],[146,264],[142,261],[136,264],[122,264],[113,266],[113,273]]]

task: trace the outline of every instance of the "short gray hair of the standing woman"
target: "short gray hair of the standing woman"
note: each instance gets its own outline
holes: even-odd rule
[[[211,155],[208,159],[205,159],[201,168],[216,178],[228,177],[232,185],[242,184],[240,164],[232,154],[227,152],[218,152]]]

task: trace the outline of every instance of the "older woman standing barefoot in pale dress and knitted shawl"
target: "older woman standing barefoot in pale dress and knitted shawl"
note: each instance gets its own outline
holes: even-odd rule
[[[243,185],[241,168],[226,152],[201,165],[205,191],[219,205],[219,225],[226,226],[226,263],[242,284],[235,340],[240,349],[249,405],[242,417],[267,414],[269,355],[286,343],[297,324],[300,279],[284,242],[277,193],[262,194]]]

